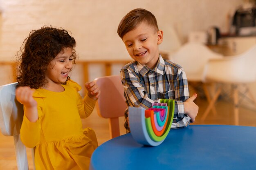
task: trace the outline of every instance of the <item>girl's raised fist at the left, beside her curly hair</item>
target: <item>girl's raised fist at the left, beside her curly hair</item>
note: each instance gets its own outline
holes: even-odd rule
[[[16,99],[27,108],[36,107],[37,102],[32,97],[34,89],[28,86],[21,86],[16,89]]]

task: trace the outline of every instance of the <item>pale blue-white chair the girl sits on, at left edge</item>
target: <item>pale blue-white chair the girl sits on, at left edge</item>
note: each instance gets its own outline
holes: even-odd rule
[[[26,147],[20,141],[24,112],[23,105],[15,97],[16,85],[11,83],[0,86],[0,129],[3,135],[13,136],[18,170],[29,170]],[[34,163],[34,149],[31,150]]]

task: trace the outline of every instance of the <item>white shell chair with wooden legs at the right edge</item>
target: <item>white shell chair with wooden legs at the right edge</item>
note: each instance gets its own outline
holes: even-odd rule
[[[234,99],[234,116],[235,125],[239,124],[239,110],[238,110],[238,85],[243,85],[247,88],[249,95],[256,106],[256,100],[254,99],[250,89],[249,83],[256,82],[256,45],[251,49],[236,56],[227,56],[222,59],[209,60],[206,66],[205,81],[219,82],[222,84],[231,84],[233,89]],[[202,120],[204,120],[216,100],[218,99],[223,86],[219,86],[211,103],[205,110]],[[245,95],[245,94],[243,94]]]

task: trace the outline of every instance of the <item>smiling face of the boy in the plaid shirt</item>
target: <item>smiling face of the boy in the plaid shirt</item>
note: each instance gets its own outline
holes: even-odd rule
[[[137,28],[126,33],[123,42],[132,59],[148,68],[155,68],[158,57],[158,45],[163,41],[163,31],[155,31],[153,26],[141,22]]]

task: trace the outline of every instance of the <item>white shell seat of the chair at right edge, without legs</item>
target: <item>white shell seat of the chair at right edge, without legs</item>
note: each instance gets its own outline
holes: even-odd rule
[[[206,81],[248,83],[256,81],[256,45],[242,54],[209,60]]]

